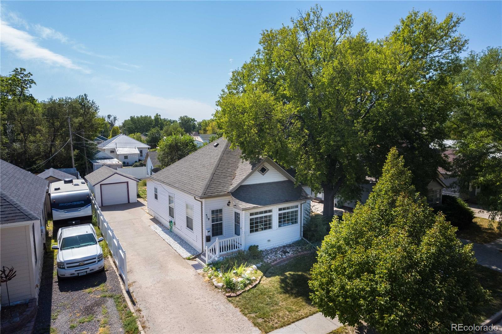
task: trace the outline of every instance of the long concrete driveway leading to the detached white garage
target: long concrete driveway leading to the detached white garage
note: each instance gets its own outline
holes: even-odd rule
[[[145,204],[101,210],[127,252],[130,290],[147,333],[260,332],[150,228],[155,219]]]

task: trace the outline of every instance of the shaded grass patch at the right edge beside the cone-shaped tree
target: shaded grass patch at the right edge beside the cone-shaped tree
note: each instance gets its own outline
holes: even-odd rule
[[[502,273],[476,265],[476,275],[481,286],[491,292],[491,299],[481,307],[484,320],[502,309]]]

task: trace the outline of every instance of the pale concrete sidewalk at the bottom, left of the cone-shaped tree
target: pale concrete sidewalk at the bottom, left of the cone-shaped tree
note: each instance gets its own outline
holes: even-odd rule
[[[269,334],[326,334],[341,326],[343,324],[338,321],[338,318],[330,319],[319,312],[273,330]]]

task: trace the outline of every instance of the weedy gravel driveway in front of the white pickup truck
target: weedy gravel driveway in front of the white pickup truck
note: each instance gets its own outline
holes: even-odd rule
[[[105,271],[58,282],[56,252],[50,245],[47,248],[35,333],[123,333],[112,298],[122,291],[109,260],[105,260]]]

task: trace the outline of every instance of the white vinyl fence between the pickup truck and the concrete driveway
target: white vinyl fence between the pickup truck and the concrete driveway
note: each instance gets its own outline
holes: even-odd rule
[[[97,225],[101,230],[101,234],[103,235],[104,240],[108,244],[108,248],[111,252],[111,257],[113,258],[113,262],[115,262],[118,273],[122,276],[122,280],[124,282],[124,286],[126,287],[126,291],[129,291],[129,286],[127,282],[127,255],[126,251],[120,245],[113,229],[108,225],[106,218],[104,218],[103,213],[99,209],[99,206],[94,199],[94,196],[91,194],[91,203],[94,207],[94,212],[96,214]]]

